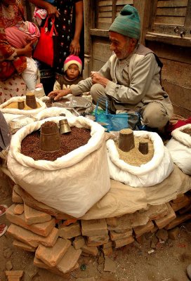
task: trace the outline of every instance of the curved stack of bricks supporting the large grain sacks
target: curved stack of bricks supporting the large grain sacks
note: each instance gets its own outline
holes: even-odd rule
[[[168,230],[169,237],[175,237],[176,226],[191,218],[190,192],[133,214],[89,221],[58,219],[61,214],[55,218],[46,208],[39,211],[27,206],[19,193],[15,185],[13,202],[17,204],[6,211],[12,223],[8,234],[15,239],[13,245],[34,251],[34,265],[62,276],[79,268],[81,255],[97,256],[103,251],[105,256],[110,256],[114,248],[124,247],[145,233],[162,229]]]

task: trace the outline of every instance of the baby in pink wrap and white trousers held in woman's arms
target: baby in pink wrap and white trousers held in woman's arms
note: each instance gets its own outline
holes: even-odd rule
[[[30,41],[37,41],[40,36],[37,25],[33,22],[21,22],[13,27],[5,29],[6,38],[14,48],[24,48]],[[27,58],[27,68],[21,73],[22,79],[25,81],[27,89],[32,91],[37,84],[37,63],[33,58]]]

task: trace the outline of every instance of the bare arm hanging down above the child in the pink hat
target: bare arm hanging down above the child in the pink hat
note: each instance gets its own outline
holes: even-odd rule
[[[74,32],[74,38],[70,44],[70,54],[79,55],[79,52],[80,52],[79,38],[80,38],[83,21],[84,21],[83,1],[78,1],[75,4],[75,11],[76,11],[76,13],[75,13],[75,18],[76,18],[75,32]]]

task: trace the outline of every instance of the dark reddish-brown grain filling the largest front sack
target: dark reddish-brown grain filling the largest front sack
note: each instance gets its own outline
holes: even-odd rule
[[[61,147],[55,152],[44,152],[40,149],[40,131],[34,131],[27,135],[21,143],[21,153],[32,157],[34,160],[55,161],[67,153],[86,145],[91,138],[90,129],[72,127],[70,133],[60,135]]]

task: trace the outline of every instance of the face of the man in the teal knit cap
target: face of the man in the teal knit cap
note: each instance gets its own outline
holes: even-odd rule
[[[127,58],[135,48],[135,40],[117,32],[110,32],[110,50],[114,51],[120,60]]]

